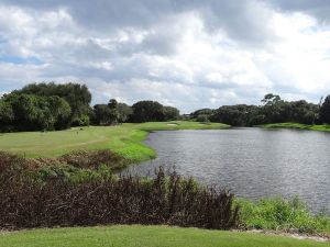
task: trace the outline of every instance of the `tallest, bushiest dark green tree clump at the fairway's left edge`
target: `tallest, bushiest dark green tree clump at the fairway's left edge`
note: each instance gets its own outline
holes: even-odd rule
[[[77,83],[33,83],[0,99],[0,131],[64,130],[87,126],[91,94]]]

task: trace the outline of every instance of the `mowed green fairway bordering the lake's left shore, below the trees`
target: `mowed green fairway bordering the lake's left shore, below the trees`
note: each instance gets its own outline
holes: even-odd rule
[[[76,127],[58,132],[6,133],[0,134],[0,150],[35,158],[57,157],[80,149],[111,149],[132,161],[142,161],[156,156],[152,148],[141,143],[151,131],[224,127],[228,125],[176,121]]]

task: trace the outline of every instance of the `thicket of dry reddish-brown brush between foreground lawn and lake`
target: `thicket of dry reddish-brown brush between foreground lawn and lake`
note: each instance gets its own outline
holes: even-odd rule
[[[165,176],[160,169],[143,179],[113,177],[103,166],[78,171],[57,166],[42,167],[35,176],[24,159],[0,158],[1,228],[168,224],[229,229],[238,223],[232,194],[176,172]]]

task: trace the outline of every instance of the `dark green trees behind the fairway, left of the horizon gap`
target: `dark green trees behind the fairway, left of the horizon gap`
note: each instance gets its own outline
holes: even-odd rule
[[[32,83],[0,99],[0,132],[52,131],[72,126],[111,125],[124,122],[170,121],[179,117],[176,108],[156,101],[133,105],[111,99],[90,106],[85,85]]]

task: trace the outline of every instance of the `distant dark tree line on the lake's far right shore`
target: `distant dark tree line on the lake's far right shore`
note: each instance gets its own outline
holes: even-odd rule
[[[323,102],[315,104],[305,100],[284,101],[279,96],[268,93],[262,99],[261,105],[235,104],[223,105],[217,110],[200,109],[193,112],[191,117],[232,126],[285,122],[330,124],[330,96]]]

